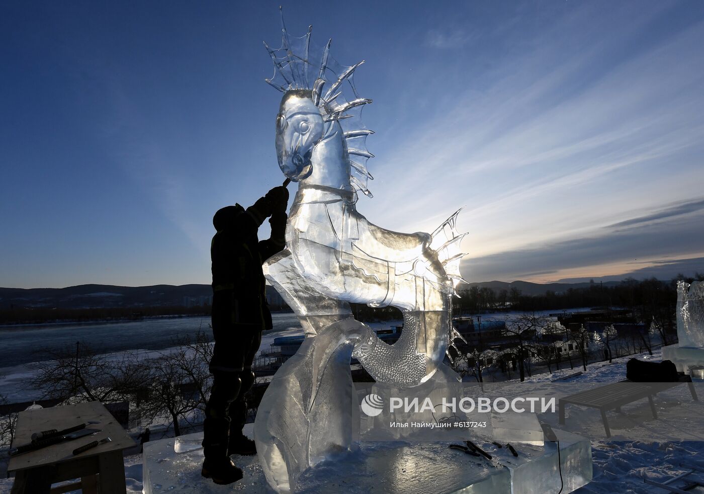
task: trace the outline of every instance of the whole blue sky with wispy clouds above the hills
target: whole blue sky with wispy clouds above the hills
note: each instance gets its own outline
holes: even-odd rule
[[[0,6],[0,286],[210,282],[213,213],[283,179],[278,5]],[[470,281],[704,272],[704,3],[284,13],[366,60],[370,221],[432,231],[465,206]]]

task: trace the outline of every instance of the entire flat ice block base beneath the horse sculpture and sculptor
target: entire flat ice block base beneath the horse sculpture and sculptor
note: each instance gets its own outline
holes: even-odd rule
[[[570,493],[591,481],[591,444],[562,431],[560,464],[565,488]],[[144,494],[178,493],[272,493],[257,457],[233,456],[244,478],[230,486],[217,486],[201,477],[203,450],[197,447],[202,433],[181,436],[181,453],[175,439],[144,445]],[[488,462],[448,448],[450,443],[384,442],[360,443],[357,452],[331,457],[308,469],[299,478],[299,492],[435,494],[546,493],[560,490],[558,450],[555,443],[544,446],[518,445],[519,456],[507,448],[487,450]]]

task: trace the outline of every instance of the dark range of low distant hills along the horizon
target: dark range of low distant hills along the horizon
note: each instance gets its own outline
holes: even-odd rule
[[[608,281],[603,286],[618,285],[619,281]],[[568,288],[589,288],[589,283],[529,283],[527,281],[483,281],[463,283],[459,290],[472,286],[488,287],[495,292],[510,291],[515,287],[522,295],[544,295],[551,290],[566,292]],[[169,307],[184,305],[186,298],[201,305],[203,299],[213,295],[210,285],[77,285],[66,288],[0,288],[0,309],[11,307],[57,307],[62,309],[91,309],[96,307]],[[275,303],[280,297],[274,288],[267,287],[268,298]]]

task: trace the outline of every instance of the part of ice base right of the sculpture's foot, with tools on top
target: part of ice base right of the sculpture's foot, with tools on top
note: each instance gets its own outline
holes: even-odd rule
[[[591,443],[555,431],[560,440],[562,493],[591,481]],[[545,494],[560,490],[555,443],[508,447],[476,439],[491,460],[451,449],[452,443],[360,443],[344,459],[330,458],[299,478],[303,493]]]

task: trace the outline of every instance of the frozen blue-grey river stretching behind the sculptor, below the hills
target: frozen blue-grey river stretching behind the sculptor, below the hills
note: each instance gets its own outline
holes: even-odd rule
[[[274,331],[300,328],[292,312],[273,314]],[[174,347],[174,340],[198,331],[212,335],[210,317],[146,319],[111,323],[44,324],[37,326],[5,326],[0,328],[0,368],[13,367],[40,358],[39,350],[75,350],[77,341],[98,353],[125,350],[162,350]]]

